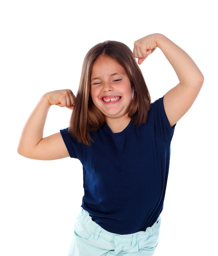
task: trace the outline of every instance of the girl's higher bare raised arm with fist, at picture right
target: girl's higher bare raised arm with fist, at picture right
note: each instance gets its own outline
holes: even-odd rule
[[[171,126],[189,110],[202,87],[204,77],[191,57],[162,34],[151,34],[134,43],[133,55],[141,64],[160,48],[174,68],[179,83],[164,96],[164,108]]]

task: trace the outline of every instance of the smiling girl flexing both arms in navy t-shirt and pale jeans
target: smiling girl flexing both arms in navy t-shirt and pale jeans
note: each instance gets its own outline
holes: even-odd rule
[[[138,64],[160,48],[179,83],[151,103]],[[135,58],[138,58],[138,64]],[[69,256],[151,256],[177,121],[203,84],[194,61],[162,34],[134,43],[106,41],[85,56],[78,94],[45,93],[24,126],[18,153],[32,159],[80,159],[84,196]],[[69,128],[43,137],[51,105],[73,110]]]

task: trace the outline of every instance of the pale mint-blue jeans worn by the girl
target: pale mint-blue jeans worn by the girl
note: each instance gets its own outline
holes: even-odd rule
[[[146,231],[113,234],[102,229],[81,209],[68,256],[152,256],[158,245],[159,231],[160,217]]]

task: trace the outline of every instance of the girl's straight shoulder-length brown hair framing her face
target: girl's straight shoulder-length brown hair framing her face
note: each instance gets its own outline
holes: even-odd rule
[[[151,103],[145,79],[131,49],[127,45],[108,40],[93,46],[86,54],[82,64],[80,85],[69,126],[69,133],[86,145],[89,145],[92,141],[90,132],[98,130],[105,123],[104,115],[93,104],[90,96],[90,78],[93,63],[101,54],[114,58],[124,67],[129,76],[134,94],[128,116],[134,121],[134,124],[140,125],[146,122]]]

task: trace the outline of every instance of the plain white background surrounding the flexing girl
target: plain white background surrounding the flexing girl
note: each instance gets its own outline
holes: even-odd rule
[[[155,256],[218,255],[217,8],[213,0],[5,0],[0,3],[0,255],[65,256],[82,202],[76,159],[36,161],[16,152],[22,127],[42,94],[76,94],[87,51],[104,40],[131,49],[162,33],[205,76],[189,112],[176,125]],[[152,101],[177,84],[160,49],[141,66]],[[53,106],[44,135],[69,124]]]

